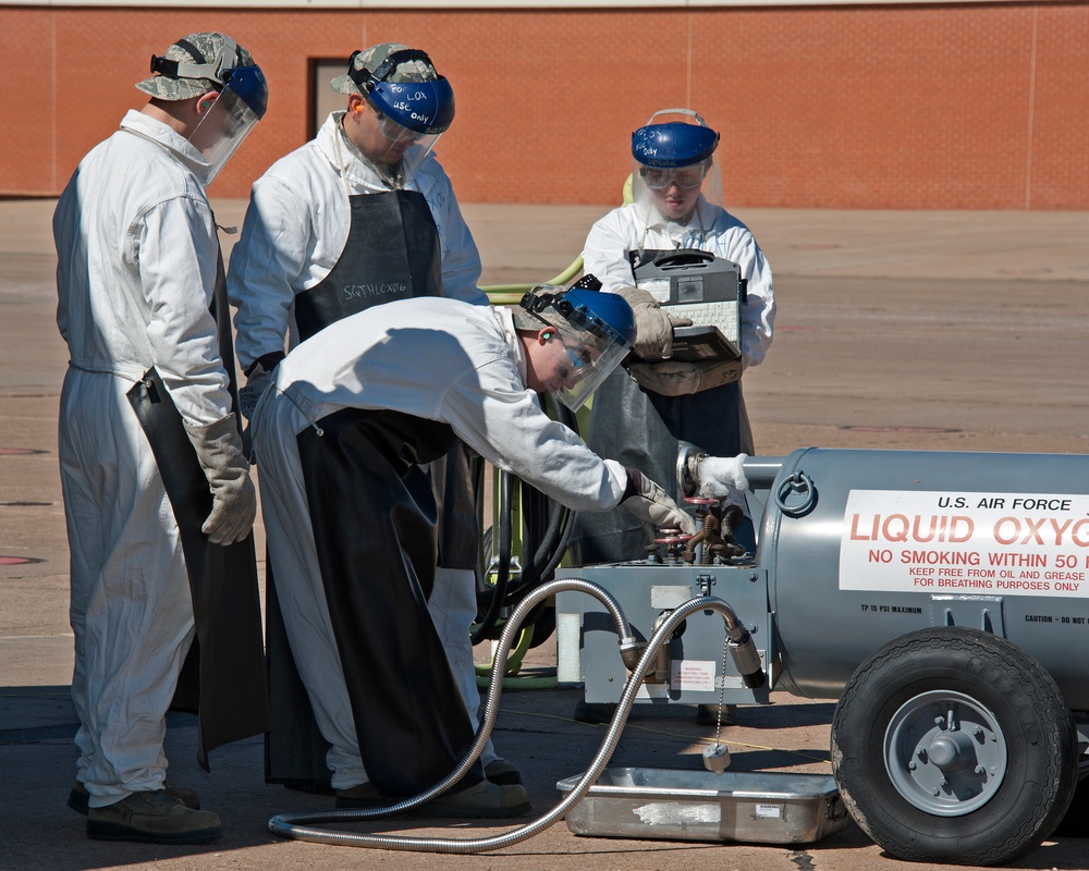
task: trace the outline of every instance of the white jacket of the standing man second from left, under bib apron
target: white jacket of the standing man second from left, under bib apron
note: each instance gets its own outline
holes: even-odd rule
[[[228,292],[237,308],[235,349],[247,368],[258,357],[296,344],[294,297],[318,284],[344,250],[351,225],[348,195],[389,191],[359,155],[333,112],[318,135],[281,158],[250,193],[242,238],[231,254]],[[414,146],[415,147],[415,146]],[[480,255],[433,156],[406,185],[431,209],[442,252],[442,291],[453,299],[487,305],[477,286]]]

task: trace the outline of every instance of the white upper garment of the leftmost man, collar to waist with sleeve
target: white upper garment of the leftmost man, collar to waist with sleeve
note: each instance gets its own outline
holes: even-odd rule
[[[83,159],[53,216],[70,365],[133,383],[154,365],[197,426],[232,410],[208,310],[219,241],[207,171],[187,139],[130,111]]]

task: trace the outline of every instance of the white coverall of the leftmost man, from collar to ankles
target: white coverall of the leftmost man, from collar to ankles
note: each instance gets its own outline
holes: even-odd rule
[[[59,456],[71,549],[77,777],[90,807],[162,788],[166,712],[194,634],[174,515],[126,392],[155,366],[183,418],[232,410],[209,314],[219,242],[207,162],[130,111],[57,205],[70,361]]]

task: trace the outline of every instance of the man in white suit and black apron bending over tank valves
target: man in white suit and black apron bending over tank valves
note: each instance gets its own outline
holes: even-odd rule
[[[257,405],[276,591],[340,807],[418,795],[473,744],[426,604],[435,506],[419,464],[460,439],[575,511],[622,504],[695,529],[658,484],[540,408],[550,392],[577,409],[631,348],[631,307],[588,284],[541,286],[516,309],[403,299],[351,315],[294,348]],[[529,808],[524,787],[489,783],[479,763],[454,789],[420,812]]]

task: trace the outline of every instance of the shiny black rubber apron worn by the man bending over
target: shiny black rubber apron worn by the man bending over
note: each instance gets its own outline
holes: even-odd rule
[[[474,737],[427,609],[437,513],[418,465],[456,437],[392,412],[345,409],[318,422],[322,436],[298,434],[298,457],[360,756],[383,795],[418,795],[453,771]],[[482,780],[478,762],[464,783]]]

